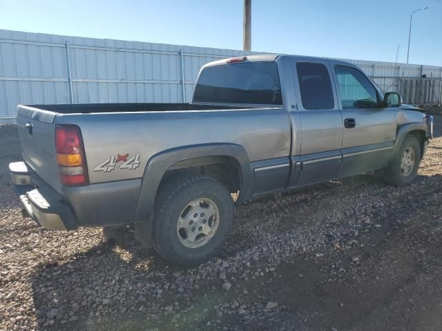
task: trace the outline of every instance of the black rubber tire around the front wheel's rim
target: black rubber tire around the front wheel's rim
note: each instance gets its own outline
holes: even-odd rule
[[[401,159],[407,148],[412,148],[414,153],[414,165],[409,174],[404,175],[401,170]],[[421,145],[419,140],[412,134],[408,134],[405,137],[398,154],[396,154],[394,160],[389,167],[385,169],[385,180],[398,187],[410,185],[416,178],[419,164],[421,163]]]

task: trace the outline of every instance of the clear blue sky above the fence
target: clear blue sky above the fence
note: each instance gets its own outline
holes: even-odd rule
[[[256,52],[442,66],[442,0],[252,0]],[[0,0],[0,29],[242,49],[243,0]]]

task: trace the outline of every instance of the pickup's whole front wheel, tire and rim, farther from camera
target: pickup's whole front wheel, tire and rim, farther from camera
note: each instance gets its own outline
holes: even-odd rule
[[[396,186],[410,185],[421,162],[419,140],[411,134],[405,137],[401,149],[385,172],[385,179]]]

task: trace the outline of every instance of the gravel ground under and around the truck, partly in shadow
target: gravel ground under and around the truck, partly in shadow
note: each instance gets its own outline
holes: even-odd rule
[[[108,247],[97,228],[22,219],[15,127],[0,141],[0,330],[441,330],[442,137],[408,188],[360,176],[236,207],[195,268],[129,227]]]

